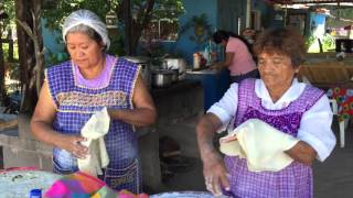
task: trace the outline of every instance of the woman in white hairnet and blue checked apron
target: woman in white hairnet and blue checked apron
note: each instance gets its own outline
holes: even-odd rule
[[[133,127],[154,122],[156,108],[143,85],[140,68],[105,53],[106,25],[88,11],[68,15],[63,38],[71,61],[45,70],[45,80],[31,121],[34,136],[53,145],[54,172],[78,170],[77,158],[88,148],[81,129],[90,116],[107,107],[110,117],[105,143],[109,164],[100,176],[116,190],[141,190],[138,141]]]

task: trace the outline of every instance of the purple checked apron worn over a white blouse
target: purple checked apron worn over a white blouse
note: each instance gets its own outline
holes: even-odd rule
[[[261,99],[255,94],[255,79],[239,84],[238,109],[234,127],[248,119],[259,119],[274,128],[297,136],[302,114],[309,110],[324,92],[307,86],[301,96],[288,107],[280,110],[268,110],[261,106]],[[255,173],[247,169],[246,160],[225,156],[231,174],[231,190],[242,198],[311,198],[312,169],[293,162],[280,172]]]

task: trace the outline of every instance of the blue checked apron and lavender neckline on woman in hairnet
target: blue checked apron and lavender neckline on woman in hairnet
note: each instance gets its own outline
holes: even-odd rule
[[[106,55],[106,66],[94,81],[85,81],[72,62],[50,67],[46,80],[57,112],[53,129],[63,134],[79,134],[90,116],[101,108],[133,109],[132,94],[139,67],[124,58]],[[110,163],[101,176],[116,190],[141,190],[138,142],[131,124],[111,120],[105,143]],[[77,158],[65,150],[53,148],[54,172],[78,170]]]

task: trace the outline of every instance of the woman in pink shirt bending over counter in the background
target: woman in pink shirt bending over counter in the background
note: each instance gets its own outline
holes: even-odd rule
[[[215,63],[211,68],[228,68],[231,81],[240,82],[245,78],[256,78],[258,70],[253,59],[247,41],[232,32],[220,30],[213,34],[213,41],[225,47],[225,59]]]

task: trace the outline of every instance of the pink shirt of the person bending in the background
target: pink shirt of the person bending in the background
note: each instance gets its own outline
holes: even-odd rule
[[[228,66],[231,76],[244,75],[256,68],[253,56],[243,41],[231,36],[225,52],[234,53],[233,62]]]

